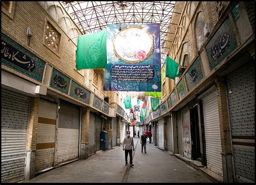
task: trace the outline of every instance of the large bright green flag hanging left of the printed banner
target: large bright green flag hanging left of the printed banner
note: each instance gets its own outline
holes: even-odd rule
[[[107,31],[78,36],[76,70],[107,68]]]

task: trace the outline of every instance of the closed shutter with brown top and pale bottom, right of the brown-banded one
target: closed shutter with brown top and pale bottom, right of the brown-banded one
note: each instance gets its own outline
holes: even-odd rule
[[[60,101],[57,164],[77,159],[79,156],[79,106]]]

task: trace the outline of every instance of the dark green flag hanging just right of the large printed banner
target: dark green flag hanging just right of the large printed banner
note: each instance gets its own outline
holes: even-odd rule
[[[167,56],[165,64],[166,64],[166,77],[171,78],[173,80],[175,80],[175,77],[179,77],[180,71],[178,69],[179,64],[177,62],[175,62],[173,59]]]

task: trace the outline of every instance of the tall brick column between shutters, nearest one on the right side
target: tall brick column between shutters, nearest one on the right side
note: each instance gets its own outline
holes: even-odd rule
[[[218,108],[220,117],[220,140],[222,150],[222,167],[223,181],[234,182],[233,174],[233,155],[232,155],[232,140],[231,128],[229,124],[229,112],[227,103],[227,88],[224,77],[218,77],[215,80],[218,89]]]

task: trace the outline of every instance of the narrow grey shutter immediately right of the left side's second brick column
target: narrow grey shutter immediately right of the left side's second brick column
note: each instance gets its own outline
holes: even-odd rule
[[[90,120],[89,120],[89,154],[95,153],[95,115],[90,112]]]

